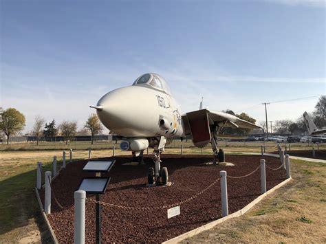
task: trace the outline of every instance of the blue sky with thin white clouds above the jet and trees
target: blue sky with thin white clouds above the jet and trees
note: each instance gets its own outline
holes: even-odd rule
[[[1,97],[26,115],[77,120],[108,91],[163,76],[182,111],[244,111],[326,93],[325,2],[0,1]],[[296,119],[318,98],[272,103]]]

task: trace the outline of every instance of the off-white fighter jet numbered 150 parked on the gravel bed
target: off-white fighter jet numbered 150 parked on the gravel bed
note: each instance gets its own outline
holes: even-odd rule
[[[122,151],[131,151],[142,160],[146,148],[153,148],[154,168],[149,168],[149,184],[168,183],[168,170],[160,166],[164,146],[175,137],[191,136],[199,148],[212,145],[214,164],[224,162],[223,149],[217,148],[217,135],[224,127],[261,128],[228,113],[210,111],[199,107],[185,114],[173,98],[166,81],[159,75],[143,74],[129,87],[110,91],[102,96],[96,106],[98,118],[113,133],[125,140]]]

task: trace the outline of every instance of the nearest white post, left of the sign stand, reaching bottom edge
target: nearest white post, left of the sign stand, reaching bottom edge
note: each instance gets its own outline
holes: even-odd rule
[[[74,192],[75,199],[75,217],[74,217],[74,243],[85,243],[85,190]]]

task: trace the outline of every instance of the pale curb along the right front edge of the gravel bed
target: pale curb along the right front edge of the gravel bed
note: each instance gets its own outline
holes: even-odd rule
[[[255,206],[259,201],[261,201],[264,197],[270,195],[272,192],[274,192],[276,189],[280,188],[281,186],[284,186],[292,179],[290,177],[289,179],[285,179],[285,181],[282,181],[280,184],[274,186],[272,189],[268,190],[267,192],[263,193],[257,199],[254,199],[251,203],[249,203],[247,206],[243,207],[241,210],[238,210],[237,212],[234,212],[232,214],[229,214],[226,217],[223,217],[221,219],[217,219],[213,222],[207,223],[206,225],[202,225],[199,228],[196,228],[195,230],[191,230],[189,232],[186,232],[184,234],[181,234],[180,236],[176,236],[173,239],[170,239],[168,241],[164,241],[162,244],[172,244],[172,243],[178,243],[184,239],[187,239],[191,236],[195,236],[196,234],[199,234],[201,232],[204,232],[205,230],[210,230],[211,228],[215,227],[215,225],[218,225],[219,223],[222,223],[228,219],[232,219],[235,217],[240,217],[241,215],[245,214],[248,210],[250,210],[253,206]]]

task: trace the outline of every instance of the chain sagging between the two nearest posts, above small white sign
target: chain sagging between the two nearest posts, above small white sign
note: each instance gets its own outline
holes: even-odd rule
[[[165,205],[165,206],[157,206],[157,207],[131,207],[131,206],[122,206],[122,205],[118,205],[118,204],[113,204],[113,203],[105,203],[104,201],[96,201],[94,199],[90,199],[87,198],[87,201],[91,201],[94,203],[100,203],[103,206],[109,206],[109,207],[113,207],[113,208],[121,208],[121,209],[126,209],[126,210],[155,210],[155,209],[166,209],[166,208],[173,208],[175,206],[180,206],[184,203],[187,203],[188,201],[192,201],[193,199],[199,197],[199,195],[202,195],[204,192],[206,192],[208,189],[212,188],[217,181],[219,181],[219,178],[217,178],[212,184],[210,184],[208,187],[206,187],[204,190],[198,192],[196,195],[194,195],[193,197],[189,197],[188,199],[179,201],[177,203],[173,203],[173,204],[169,204],[169,205]]]

